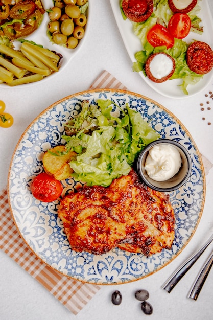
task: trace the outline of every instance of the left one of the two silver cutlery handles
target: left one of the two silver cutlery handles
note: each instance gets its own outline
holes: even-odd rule
[[[176,286],[176,284],[182,279],[185,273],[192,267],[192,265],[198,260],[198,258],[202,255],[204,250],[213,240],[213,236],[204,244],[202,248],[200,248],[194,255],[186,260],[178,269],[174,271],[172,276],[162,285],[162,288],[166,290],[168,293],[172,291],[172,289]]]

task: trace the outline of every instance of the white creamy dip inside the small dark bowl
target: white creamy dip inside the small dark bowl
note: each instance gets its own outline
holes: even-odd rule
[[[180,169],[181,156],[179,151],[168,144],[152,147],[145,161],[148,176],[155,181],[172,178]]]

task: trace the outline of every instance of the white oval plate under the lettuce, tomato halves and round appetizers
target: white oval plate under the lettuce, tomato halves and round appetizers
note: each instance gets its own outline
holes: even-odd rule
[[[124,20],[122,17],[120,10],[120,0],[110,0],[110,3],[117,23],[117,27],[119,28],[126,50],[133,64],[133,62],[136,62],[135,53],[140,50],[143,50],[140,40],[134,35],[132,31],[132,22],[129,19]],[[213,48],[213,38],[211,36],[213,34],[213,20],[208,5],[208,1],[198,0],[198,3],[201,7],[199,17],[202,19],[204,32],[202,35],[190,32],[190,34],[183,40],[187,43],[190,43],[192,40],[196,39],[208,43],[210,47]],[[141,78],[159,94],[165,97],[177,99],[191,97],[202,91],[211,81],[213,77],[213,70],[210,73],[204,75],[204,77],[195,85],[188,85],[188,95],[185,95],[182,92],[182,90],[178,87],[178,85],[182,83],[180,79],[168,80],[163,83],[155,83],[151,81],[148,77],[145,77],[142,71],[139,72],[139,74]]]

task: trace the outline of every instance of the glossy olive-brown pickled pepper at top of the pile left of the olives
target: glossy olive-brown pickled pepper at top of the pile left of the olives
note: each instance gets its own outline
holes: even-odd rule
[[[12,19],[26,19],[35,9],[36,5],[32,0],[21,1],[11,8],[10,17]]]

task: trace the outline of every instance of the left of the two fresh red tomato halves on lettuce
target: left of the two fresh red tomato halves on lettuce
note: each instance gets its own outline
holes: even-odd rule
[[[168,49],[174,45],[174,37],[169,33],[167,28],[159,24],[154,25],[148,31],[147,40],[153,47],[165,45]]]

